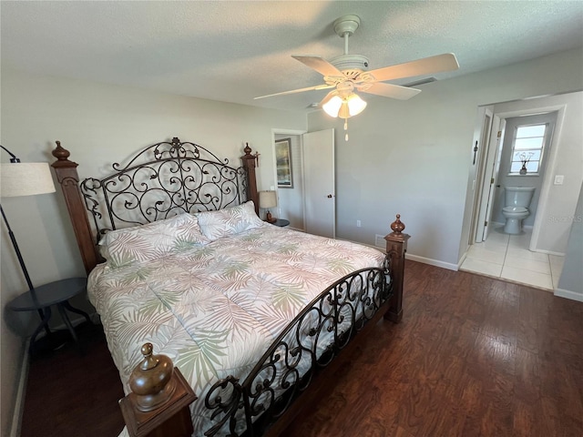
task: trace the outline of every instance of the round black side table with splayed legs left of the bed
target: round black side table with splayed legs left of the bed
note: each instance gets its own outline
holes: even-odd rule
[[[71,278],[71,279],[61,279],[55,282],[50,282],[40,287],[35,287],[36,299],[33,298],[30,290],[26,293],[21,294],[14,300],[11,300],[6,308],[13,311],[39,311],[42,314],[42,320],[40,324],[36,327],[35,332],[33,332],[30,338],[29,353],[32,355],[34,350],[36,336],[41,330],[45,329],[47,335],[50,335],[50,330],[48,328],[48,320],[51,318],[51,306],[56,305],[61,318],[66,324],[67,330],[71,333],[71,337],[79,346],[79,340],[77,339],[77,334],[75,329],[69,320],[66,310],[71,312],[76,312],[81,314],[88,322],[91,322],[87,312],[82,310],[77,310],[71,306],[68,302],[73,296],[82,293],[87,289],[87,278]]]

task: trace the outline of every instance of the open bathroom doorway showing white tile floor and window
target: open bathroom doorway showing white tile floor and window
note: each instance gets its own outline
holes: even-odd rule
[[[484,163],[480,178],[476,178],[478,189],[472,211],[474,228],[470,232],[470,248],[460,269],[554,290],[556,275],[552,274],[552,257],[530,248],[533,246],[531,239],[534,236],[538,200],[544,185],[550,183],[546,172],[547,168],[551,168],[548,161],[557,111],[531,110],[524,114],[482,111],[481,114],[480,137],[490,139],[487,144],[484,143],[485,149],[482,151],[481,159]],[[490,118],[492,126],[488,127],[487,121]],[[527,147],[520,148],[522,146],[518,139],[521,138],[520,132],[536,126],[545,127],[545,136],[539,138],[543,144],[539,153],[531,153]],[[489,135],[488,129],[491,130]],[[520,161],[515,161],[521,154],[525,155],[525,150],[533,162],[527,164],[527,174],[520,174]],[[523,231],[520,234],[510,235],[503,230],[506,221],[502,214],[502,208],[506,206],[505,187],[535,188],[535,196],[528,206],[530,215],[523,220]]]

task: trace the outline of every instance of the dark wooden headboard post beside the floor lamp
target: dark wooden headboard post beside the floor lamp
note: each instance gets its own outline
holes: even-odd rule
[[[53,156],[57,159],[51,166],[55,168],[56,180],[63,190],[66,208],[69,210],[71,224],[75,230],[77,245],[81,252],[81,258],[85,270],[89,273],[98,262],[97,249],[93,243],[93,236],[87,210],[79,190],[79,175],[77,174],[77,162],[69,161],[69,151],[61,147],[61,142],[56,141]]]

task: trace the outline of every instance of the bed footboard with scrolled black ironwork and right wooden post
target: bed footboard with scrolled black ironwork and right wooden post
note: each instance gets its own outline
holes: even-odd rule
[[[320,399],[322,387],[330,381],[325,375],[332,375],[336,364],[342,362],[334,358],[358,344],[353,341],[355,336],[354,340],[365,338],[365,331],[382,317],[401,320],[409,236],[402,233],[404,224],[398,215],[391,229],[393,232],[384,238],[383,267],[360,269],[338,279],[288,324],[244,381],[229,376],[210,388],[204,401],[215,424],[208,430],[198,430],[196,435],[280,435],[302,408]],[[164,391],[156,387],[148,395]],[[129,393],[125,399],[134,394]],[[159,416],[155,425],[159,433],[152,435],[179,437],[192,433],[191,424],[188,429],[182,428],[183,418],[175,407],[176,403],[169,401],[160,405],[158,412],[151,412]],[[131,415],[124,416],[128,429],[136,425],[128,422]],[[147,426],[146,422],[141,425]],[[177,429],[187,431],[180,433]]]

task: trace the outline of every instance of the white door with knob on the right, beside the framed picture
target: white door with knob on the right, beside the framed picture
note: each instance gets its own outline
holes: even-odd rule
[[[334,129],[303,135],[304,225],[306,232],[336,236]]]

